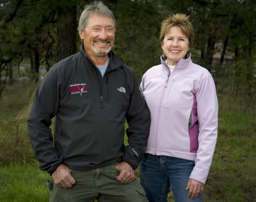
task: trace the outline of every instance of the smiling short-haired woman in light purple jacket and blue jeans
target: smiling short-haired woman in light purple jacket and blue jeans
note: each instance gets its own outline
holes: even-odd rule
[[[143,75],[151,113],[150,135],[140,162],[148,201],[202,201],[217,140],[218,101],[212,76],[191,61],[193,25],[184,14],[161,24],[161,64]]]

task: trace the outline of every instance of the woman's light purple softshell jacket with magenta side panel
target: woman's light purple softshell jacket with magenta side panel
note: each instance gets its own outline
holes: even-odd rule
[[[218,129],[216,88],[207,69],[180,59],[170,73],[161,64],[143,75],[141,89],[151,113],[146,153],[195,161],[190,178],[205,183]]]

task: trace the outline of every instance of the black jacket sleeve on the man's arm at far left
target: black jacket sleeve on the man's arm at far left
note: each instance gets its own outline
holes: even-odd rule
[[[28,118],[28,134],[39,161],[39,168],[50,175],[60,166],[59,156],[51,133],[51,119],[58,112],[60,90],[56,69],[51,68],[36,88],[31,112]]]

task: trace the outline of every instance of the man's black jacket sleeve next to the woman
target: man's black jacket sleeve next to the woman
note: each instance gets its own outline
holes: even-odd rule
[[[130,105],[126,115],[128,123],[126,134],[129,145],[125,147],[123,161],[129,163],[133,169],[136,169],[147,147],[150,111],[135,73],[133,77],[133,91],[131,92]]]

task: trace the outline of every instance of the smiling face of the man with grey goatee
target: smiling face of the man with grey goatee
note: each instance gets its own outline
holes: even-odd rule
[[[115,42],[115,24],[112,18],[92,15],[83,31],[79,31],[84,50],[92,59],[104,57]]]

